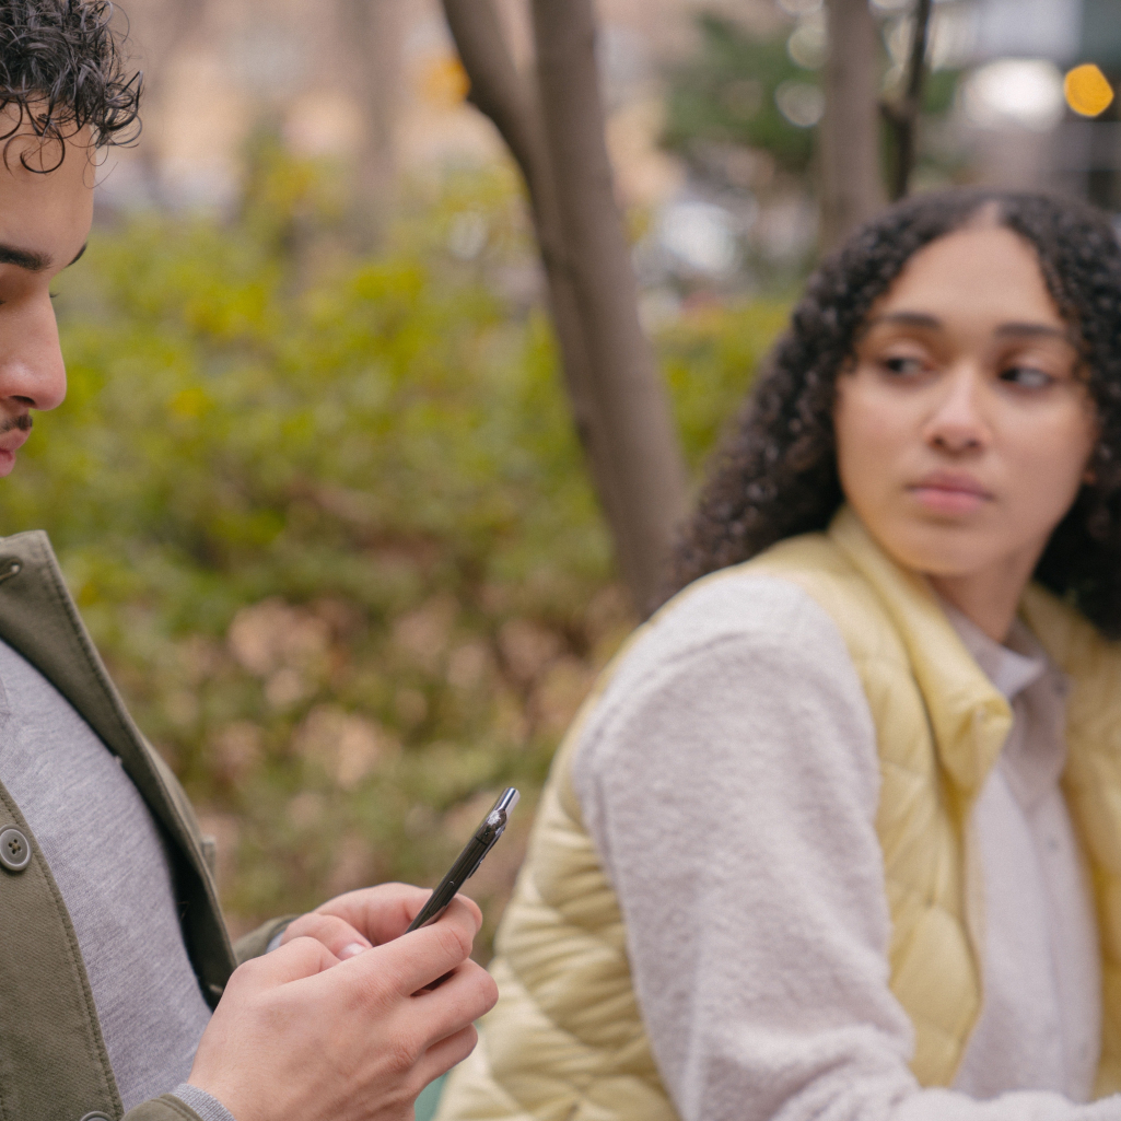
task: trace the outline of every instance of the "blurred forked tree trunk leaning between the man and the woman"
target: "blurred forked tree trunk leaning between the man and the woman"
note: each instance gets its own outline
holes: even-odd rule
[[[536,74],[515,68],[492,0],[443,0],[470,100],[526,178],[573,415],[623,578],[646,614],[686,510],[669,401],[638,318],[614,197],[591,0],[531,0]]]

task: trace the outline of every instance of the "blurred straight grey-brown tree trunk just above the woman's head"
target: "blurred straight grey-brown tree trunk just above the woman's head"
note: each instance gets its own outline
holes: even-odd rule
[[[826,0],[828,57],[822,121],[822,248],[843,241],[883,205],[879,35],[868,0]]]

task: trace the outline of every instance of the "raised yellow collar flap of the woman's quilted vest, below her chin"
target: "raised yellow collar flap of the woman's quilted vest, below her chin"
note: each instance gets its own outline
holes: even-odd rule
[[[1008,702],[957,637],[929,584],[896,564],[850,507],[834,517],[828,536],[891,619],[926,703],[938,758],[955,785],[975,797],[1011,730]]]

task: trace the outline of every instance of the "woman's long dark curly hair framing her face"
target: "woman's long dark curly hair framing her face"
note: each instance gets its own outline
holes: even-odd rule
[[[918,195],[886,210],[822,263],[715,458],[677,550],[675,589],[828,525],[844,500],[835,386],[856,334],[917,250],[982,211],[1035,248],[1056,307],[1081,341],[1096,413],[1093,482],[1051,534],[1035,576],[1102,633],[1121,637],[1121,248],[1104,215],[1041,194]]]

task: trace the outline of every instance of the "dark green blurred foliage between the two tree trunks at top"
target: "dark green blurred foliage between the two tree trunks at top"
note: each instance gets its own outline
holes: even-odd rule
[[[686,159],[698,143],[734,143],[770,152],[779,166],[805,172],[813,130],[791,124],[775,92],[784,82],[817,85],[817,75],[790,59],[786,37],[761,39],[713,12],[697,16],[700,44],[669,74],[663,142]]]

